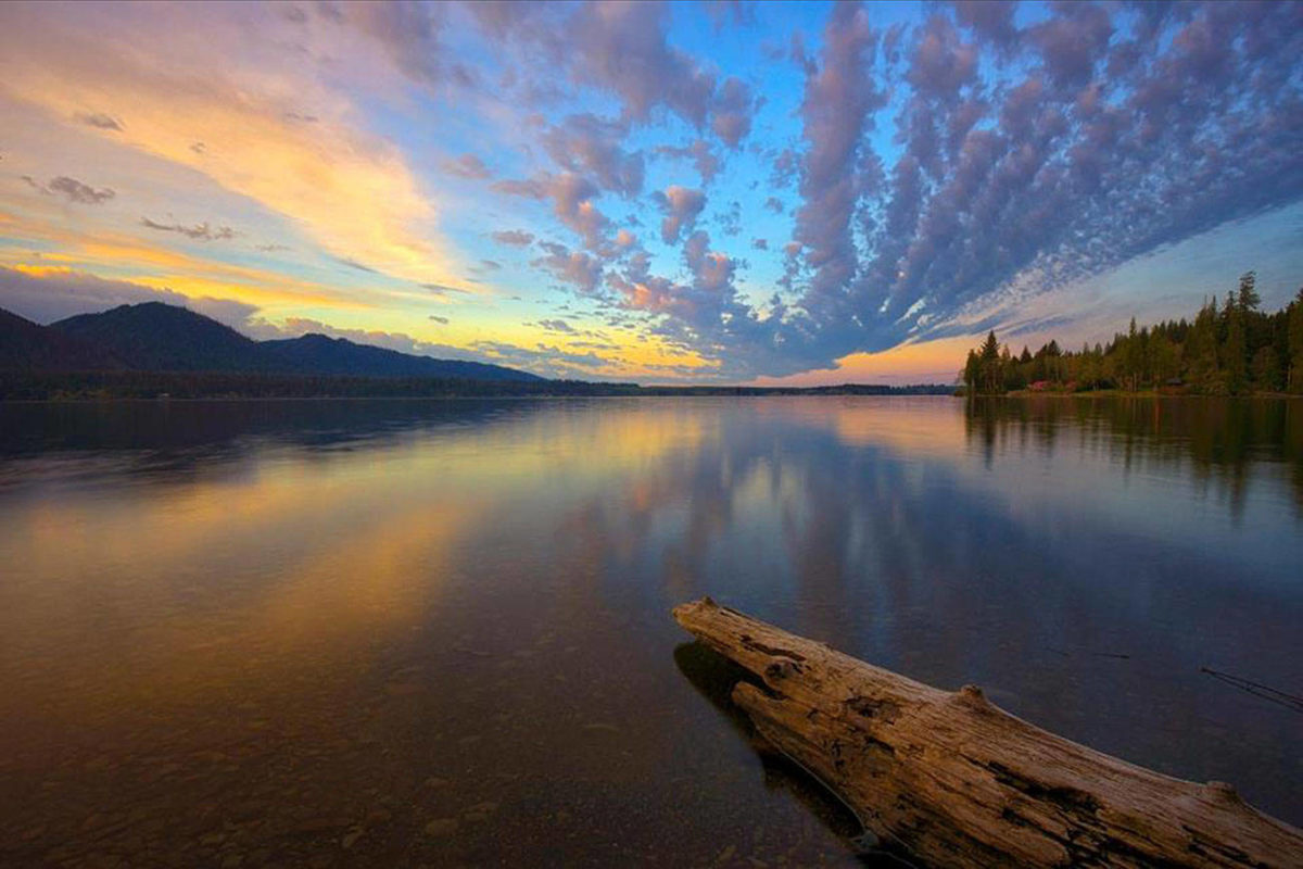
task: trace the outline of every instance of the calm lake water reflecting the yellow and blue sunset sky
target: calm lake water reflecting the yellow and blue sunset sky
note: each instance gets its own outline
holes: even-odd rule
[[[711,594],[1303,823],[1303,403],[0,405],[0,862],[846,864]]]

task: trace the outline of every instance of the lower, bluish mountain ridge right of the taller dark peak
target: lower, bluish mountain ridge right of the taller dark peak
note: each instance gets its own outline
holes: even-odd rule
[[[542,380],[500,365],[437,360],[380,347],[354,344],[343,337],[304,335],[259,344],[268,370],[284,374],[349,374],[362,377],[435,377],[469,380]]]

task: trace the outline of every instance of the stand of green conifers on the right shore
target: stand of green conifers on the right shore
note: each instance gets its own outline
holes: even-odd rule
[[[1049,341],[1035,353],[1014,356],[995,332],[972,350],[960,378],[969,395],[1015,390],[1170,390],[1199,395],[1252,392],[1303,393],[1303,288],[1281,310],[1259,310],[1256,275],[1240,275],[1239,288],[1218,305],[1214,296],[1195,319],[1164,321],[1136,328],[1108,344],[1079,352]]]

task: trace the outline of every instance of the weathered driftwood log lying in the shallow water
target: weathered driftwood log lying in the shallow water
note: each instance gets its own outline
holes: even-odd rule
[[[881,840],[936,866],[1303,866],[1303,831],[721,607],[680,625],[757,677],[732,700]]]

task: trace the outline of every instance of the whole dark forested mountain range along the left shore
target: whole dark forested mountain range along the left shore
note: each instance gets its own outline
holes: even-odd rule
[[[121,305],[50,326],[0,310],[0,369],[543,382],[500,365],[437,360],[324,335],[254,341],[208,317],[162,302]]]

